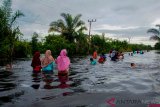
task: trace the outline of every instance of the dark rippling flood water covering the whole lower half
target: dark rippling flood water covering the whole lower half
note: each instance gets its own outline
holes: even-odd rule
[[[89,58],[72,58],[68,78],[59,78],[56,70],[53,75],[33,74],[31,59],[15,61],[12,72],[1,67],[0,106],[112,107],[109,99],[114,99],[115,107],[160,104],[160,52],[126,53],[123,60],[107,57],[97,65],[90,65]],[[61,85],[61,79],[67,83]]]

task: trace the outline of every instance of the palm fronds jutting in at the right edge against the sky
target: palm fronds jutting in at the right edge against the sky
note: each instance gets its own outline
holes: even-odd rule
[[[160,41],[160,25],[156,25],[159,29],[151,28],[147,30],[147,33],[153,33],[154,35],[150,37],[152,40]]]

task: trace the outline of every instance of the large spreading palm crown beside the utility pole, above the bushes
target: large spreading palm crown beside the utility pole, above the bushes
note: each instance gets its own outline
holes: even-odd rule
[[[53,21],[50,23],[49,32],[56,31],[61,33],[67,40],[74,42],[77,35],[86,30],[85,23],[80,20],[81,14],[72,17],[70,14],[62,13],[63,19]]]

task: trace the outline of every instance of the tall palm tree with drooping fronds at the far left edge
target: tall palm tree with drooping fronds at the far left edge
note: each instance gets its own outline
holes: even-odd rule
[[[1,52],[12,62],[15,42],[22,35],[18,26],[15,26],[16,20],[24,14],[21,11],[13,13],[11,9],[11,0],[4,0],[0,7],[0,49]]]

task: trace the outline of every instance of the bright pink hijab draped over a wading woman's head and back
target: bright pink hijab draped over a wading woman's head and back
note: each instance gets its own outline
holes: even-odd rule
[[[58,71],[66,71],[69,69],[70,59],[67,57],[67,50],[63,49],[56,60]]]

